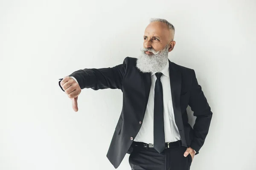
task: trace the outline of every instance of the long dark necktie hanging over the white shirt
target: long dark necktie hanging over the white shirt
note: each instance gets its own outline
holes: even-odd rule
[[[154,148],[158,153],[165,149],[164,124],[163,124],[163,87],[161,76],[156,73],[157,81],[154,90]]]

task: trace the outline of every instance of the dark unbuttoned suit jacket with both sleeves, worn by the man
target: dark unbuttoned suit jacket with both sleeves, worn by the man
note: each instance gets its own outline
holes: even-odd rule
[[[115,168],[119,167],[125,154],[133,150],[131,143],[142,125],[139,122],[143,122],[151,87],[151,74],[140,72],[136,68],[136,61],[137,58],[126,57],[122,64],[112,68],[85,68],[69,75],[77,79],[81,89],[118,88],[123,93],[122,111],[107,153]],[[175,122],[182,146],[192,147],[197,155],[209,131],[211,108],[193,69],[169,60],[169,73]],[[188,105],[196,116],[193,129],[188,123]]]

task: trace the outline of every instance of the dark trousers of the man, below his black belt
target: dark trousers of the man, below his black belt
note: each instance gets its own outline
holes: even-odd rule
[[[189,170],[192,157],[184,157],[186,147],[165,148],[158,153],[153,147],[133,146],[129,156],[132,170]]]

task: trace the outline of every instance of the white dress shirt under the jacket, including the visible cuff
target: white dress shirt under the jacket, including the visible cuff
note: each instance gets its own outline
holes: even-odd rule
[[[134,141],[154,144],[154,88],[157,81],[156,72],[151,73],[151,88],[148,97],[148,104],[141,125],[140,131]],[[174,111],[172,106],[172,93],[169,78],[169,61],[161,71],[161,83],[163,86],[163,119],[165,142],[175,142],[180,140],[180,133],[175,123]],[[73,78],[76,82],[75,77]],[[78,83],[78,82],[77,82]]]

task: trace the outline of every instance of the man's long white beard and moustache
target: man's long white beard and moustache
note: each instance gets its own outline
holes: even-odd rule
[[[137,59],[136,67],[143,73],[160,72],[166,66],[168,61],[168,45],[162,51],[154,51],[153,49],[143,48],[142,54]],[[153,54],[145,54],[150,51]]]

